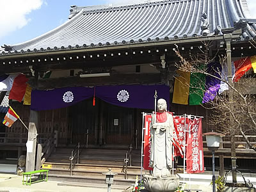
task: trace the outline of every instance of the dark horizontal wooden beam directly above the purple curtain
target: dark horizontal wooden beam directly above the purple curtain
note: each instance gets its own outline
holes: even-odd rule
[[[156,84],[161,83],[160,73],[131,73],[131,74],[111,74],[109,77],[60,77],[58,79],[40,79],[38,80],[38,90],[49,90],[52,88],[61,88],[67,86],[96,86],[104,84]],[[29,82],[34,88],[35,84]]]

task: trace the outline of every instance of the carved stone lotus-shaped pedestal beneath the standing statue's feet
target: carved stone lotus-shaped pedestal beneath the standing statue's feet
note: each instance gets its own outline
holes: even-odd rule
[[[157,178],[152,175],[144,175],[143,184],[148,191],[173,192],[179,187],[179,177],[172,175],[171,177]]]

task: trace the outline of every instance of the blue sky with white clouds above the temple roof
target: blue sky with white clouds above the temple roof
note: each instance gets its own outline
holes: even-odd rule
[[[68,18],[70,5],[90,6],[97,4],[125,4],[132,1],[154,0],[7,0],[0,1],[0,45],[19,44],[42,35]],[[22,2],[22,3],[21,3]],[[248,0],[251,14],[256,18],[256,1]],[[10,7],[12,12],[10,12]],[[6,16],[7,15],[7,16]]]

